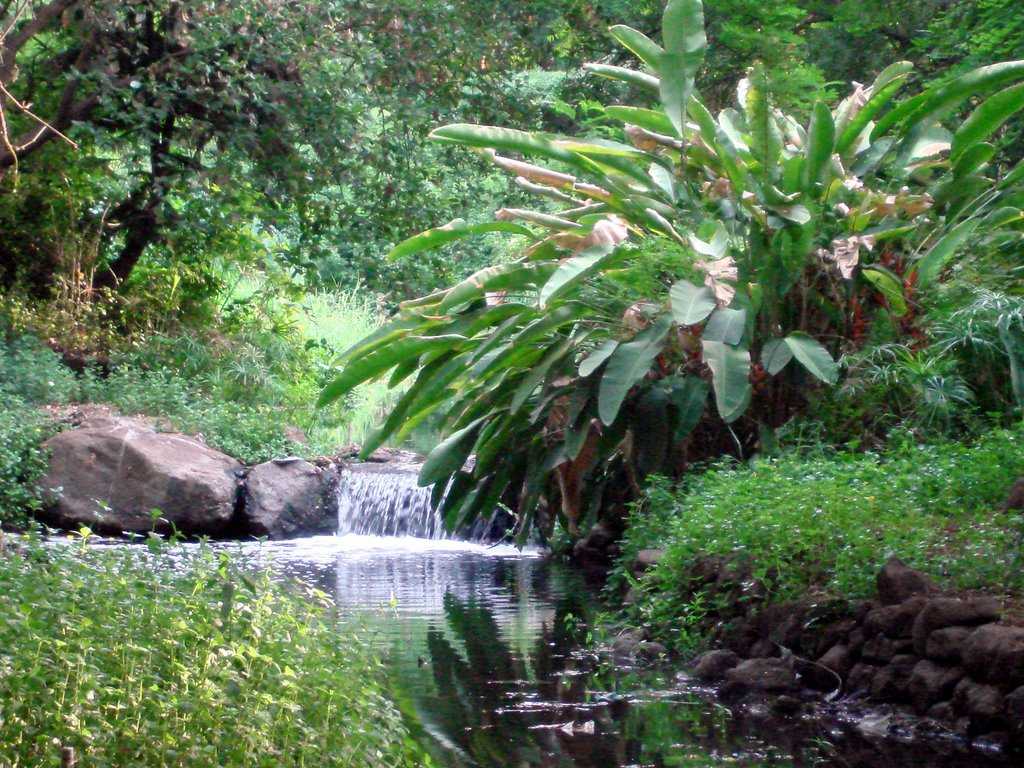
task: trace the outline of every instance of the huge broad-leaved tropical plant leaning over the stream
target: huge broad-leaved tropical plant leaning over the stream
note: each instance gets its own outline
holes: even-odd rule
[[[575,534],[607,478],[636,487],[687,441],[707,454],[729,444],[714,447],[714,430],[757,434],[788,412],[786,393],[838,381],[837,354],[865,316],[894,324],[973,242],[1024,229],[1024,168],[1000,174],[990,141],[1024,108],[1024,61],[902,99],[911,67],[897,62],[834,108],[815,103],[805,124],[776,109],[759,65],[736,108],[711,114],[694,87],[699,0],[667,4],[660,44],[610,32],[640,68],[589,69],[653,105],[605,108],[618,141],[436,129],[543,205],[454,221],[389,258],[484,232],[519,238],[521,256],[401,304],[342,355],[321,397],[370,379],[403,385],[364,452],[439,423],[420,481],[453,528],[505,501],[521,536],[545,509]],[[681,254],[687,273],[612,307],[609,282],[629,286],[652,244]]]

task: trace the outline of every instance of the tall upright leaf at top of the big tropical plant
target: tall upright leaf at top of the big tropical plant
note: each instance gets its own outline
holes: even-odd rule
[[[700,0],[669,0],[662,16],[662,38],[665,44],[658,68],[662,103],[676,135],[682,138],[687,102],[708,47]]]

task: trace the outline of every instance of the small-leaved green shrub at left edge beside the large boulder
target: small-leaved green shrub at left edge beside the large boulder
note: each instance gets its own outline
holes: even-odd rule
[[[18,397],[4,397],[0,411],[0,525],[20,526],[39,509],[38,480],[46,471],[43,441],[51,420]]]

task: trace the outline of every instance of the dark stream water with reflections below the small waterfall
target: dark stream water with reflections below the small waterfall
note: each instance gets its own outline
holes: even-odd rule
[[[580,650],[598,591],[537,553],[357,536],[228,549],[318,587],[367,626],[442,766],[1014,764],[951,745],[872,741],[853,726],[733,713],[672,671],[612,669]]]

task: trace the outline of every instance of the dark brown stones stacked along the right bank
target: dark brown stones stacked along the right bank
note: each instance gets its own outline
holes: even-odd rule
[[[1024,743],[1024,627],[999,601],[949,596],[897,559],[878,600],[850,614],[813,602],[770,606],[698,657],[725,695],[859,698],[906,706],[967,737]]]

